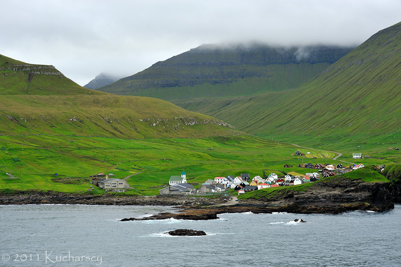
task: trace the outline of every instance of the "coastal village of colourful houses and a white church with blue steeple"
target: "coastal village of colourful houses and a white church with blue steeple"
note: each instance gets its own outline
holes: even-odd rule
[[[304,153],[301,153],[297,150],[292,155],[294,156],[302,156]],[[361,158],[361,153],[353,153],[352,158]],[[364,165],[360,164],[350,164],[347,166],[343,166],[342,163],[338,163],[337,165],[333,165],[330,163],[301,163],[298,164],[298,168],[308,168],[313,171],[305,173],[305,175],[297,173],[297,175],[291,174],[291,172],[277,171],[281,174],[277,175],[275,172],[269,173],[267,176],[261,177],[259,175],[250,177],[249,173],[241,173],[241,175],[233,176],[228,175],[226,177],[215,177],[214,179],[208,179],[202,185],[198,186],[197,183],[187,183],[186,173],[182,171],[181,175],[170,176],[168,180],[168,186],[160,189],[160,195],[204,195],[204,194],[244,194],[250,191],[256,191],[264,188],[270,187],[279,187],[279,186],[293,186],[300,185],[304,183],[310,183],[318,181],[321,178],[330,177],[338,174],[347,173],[352,170],[356,170],[359,168],[363,168]],[[293,165],[284,164],[283,168],[293,168]],[[384,169],[384,166],[378,166],[380,170]],[[293,172],[296,173],[296,172]],[[97,175],[93,175],[92,184],[98,186],[101,189],[105,189],[106,191],[124,191],[125,189],[129,189],[129,184],[123,179],[117,179],[112,177],[113,174],[103,174],[99,173]],[[88,189],[91,190],[91,189]]]

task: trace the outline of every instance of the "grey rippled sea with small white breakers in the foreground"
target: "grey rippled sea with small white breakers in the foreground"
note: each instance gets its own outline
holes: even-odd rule
[[[169,206],[0,205],[0,266],[401,266],[401,205],[141,220]],[[303,219],[306,222],[295,222]],[[206,236],[170,236],[175,229]]]

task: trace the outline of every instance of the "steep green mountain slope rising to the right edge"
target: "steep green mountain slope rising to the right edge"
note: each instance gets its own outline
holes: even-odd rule
[[[181,106],[253,134],[401,131],[401,23],[379,31],[295,90]]]

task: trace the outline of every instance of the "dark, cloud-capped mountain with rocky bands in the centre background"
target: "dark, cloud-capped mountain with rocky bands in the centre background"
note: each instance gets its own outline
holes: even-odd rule
[[[350,50],[327,46],[202,45],[98,90],[173,103],[276,92],[302,84]]]

